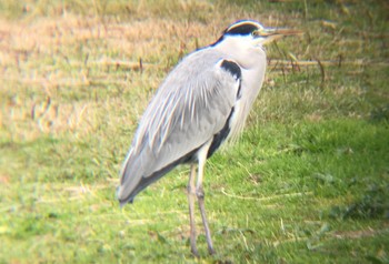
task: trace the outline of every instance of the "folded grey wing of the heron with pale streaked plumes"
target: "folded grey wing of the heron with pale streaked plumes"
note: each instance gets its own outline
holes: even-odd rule
[[[121,171],[121,204],[132,202],[141,190],[178,164],[192,161],[210,140],[215,140],[212,154],[228,134],[239,98],[239,65],[219,60],[209,69],[193,71],[192,67],[183,63],[174,69],[146,110]]]

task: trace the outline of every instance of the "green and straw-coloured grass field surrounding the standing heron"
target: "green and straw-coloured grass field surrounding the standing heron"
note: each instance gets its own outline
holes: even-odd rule
[[[1,263],[388,263],[385,1],[0,1]],[[118,171],[169,70],[252,18],[268,47],[241,140],[206,169],[217,254],[190,255],[182,166],[120,210]],[[197,215],[199,230],[201,220]]]

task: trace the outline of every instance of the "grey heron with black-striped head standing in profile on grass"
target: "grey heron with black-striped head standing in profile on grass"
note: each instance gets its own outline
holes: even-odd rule
[[[117,191],[120,204],[132,203],[140,191],[177,165],[190,164],[191,252],[198,255],[197,199],[208,250],[213,254],[202,187],[206,161],[245,125],[265,78],[263,44],[297,33],[300,32],[240,20],[228,27],[215,43],[184,57],[159,87],[139,122],[120,172]]]

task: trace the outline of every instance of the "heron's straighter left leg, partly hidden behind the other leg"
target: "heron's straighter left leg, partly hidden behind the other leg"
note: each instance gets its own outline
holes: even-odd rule
[[[188,182],[188,202],[189,202],[189,217],[190,217],[190,248],[194,256],[199,256],[199,252],[196,247],[196,223],[194,223],[194,200],[196,200],[196,186],[194,186],[196,164],[191,164],[189,182]]]

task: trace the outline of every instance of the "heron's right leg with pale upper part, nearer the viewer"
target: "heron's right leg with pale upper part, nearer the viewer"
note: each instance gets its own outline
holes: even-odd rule
[[[209,254],[212,255],[212,254],[215,254],[215,250],[213,250],[213,245],[212,245],[211,231],[209,230],[209,225],[208,225],[208,221],[207,221],[206,206],[205,206],[205,191],[202,187],[202,176],[203,176],[203,167],[206,164],[206,160],[207,160],[207,156],[199,155],[199,169],[198,169],[196,195],[197,195],[197,199],[199,201],[202,224],[203,224],[205,231],[206,231],[208,251],[209,251]]]

